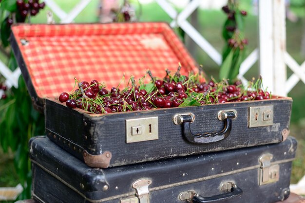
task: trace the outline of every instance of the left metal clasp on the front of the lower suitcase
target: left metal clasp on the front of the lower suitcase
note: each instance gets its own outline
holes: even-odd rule
[[[149,203],[149,185],[152,184],[150,179],[140,179],[133,183],[133,188],[136,190],[136,196],[140,203]]]

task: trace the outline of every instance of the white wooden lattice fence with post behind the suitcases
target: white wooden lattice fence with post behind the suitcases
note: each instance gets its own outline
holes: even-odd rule
[[[92,0],[80,0],[69,13],[63,11],[54,0],[44,1],[57,15],[61,23],[71,23]],[[201,0],[191,0],[181,12],[176,11],[167,0],[155,1],[172,18],[172,27],[181,27],[217,65],[221,64],[221,55],[187,20],[192,12],[200,6]],[[273,94],[286,96],[298,81],[301,80],[305,83],[305,62],[299,65],[286,52],[285,0],[259,0],[258,11],[259,47],[244,60],[238,77],[244,82],[247,81],[244,74],[260,59],[259,71],[264,78],[264,87],[268,87],[268,90]],[[293,72],[289,78],[286,74],[286,65]],[[11,72],[0,61],[0,74],[6,78],[8,87],[18,87],[19,69]],[[305,182],[305,178],[302,180]],[[304,184],[303,182],[301,185]],[[305,194],[305,191],[303,192]]]

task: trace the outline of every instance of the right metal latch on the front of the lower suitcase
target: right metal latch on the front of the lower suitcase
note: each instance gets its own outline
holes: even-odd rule
[[[264,154],[259,158],[262,166],[260,168],[259,185],[274,183],[279,180],[280,166],[278,164],[271,165],[272,154]]]

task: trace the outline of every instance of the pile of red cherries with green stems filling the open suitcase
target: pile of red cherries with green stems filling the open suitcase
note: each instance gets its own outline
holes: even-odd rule
[[[227,80],[200,82],[205,80],[200,74],[180,75],[180,68],[173,75],[167,71],[163,79],[148,72],[152,77],[151,83],[135,85],[131,78],[132,86],[122,91],[115,87],[108,91],[96,80],[90,83],[76,80],[78,89],[70,94],[63,92],[58,99],[72,109],[111,113],[272,98],[269,92],[259,88],[261,80],[252,81],[245,89],[240,81],[232,85]]]

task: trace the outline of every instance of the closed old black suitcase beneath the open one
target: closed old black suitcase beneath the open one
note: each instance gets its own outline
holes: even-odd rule
[[[40,203],[274,203],[289,195],[297,142],[90,168],[46,137],[30,141]],[[161,149],[160,149],[161,150]]]

